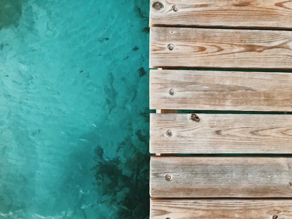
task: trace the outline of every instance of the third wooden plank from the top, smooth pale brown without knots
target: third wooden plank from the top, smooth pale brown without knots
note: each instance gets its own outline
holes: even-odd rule
[[[150,70],[150,109],[161,108],[291,111],[292,74]]]

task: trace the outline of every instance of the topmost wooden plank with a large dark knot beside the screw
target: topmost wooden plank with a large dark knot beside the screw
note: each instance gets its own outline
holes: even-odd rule
[[[150,1],[150,26],[291,29],[291,17],[291,1]]]

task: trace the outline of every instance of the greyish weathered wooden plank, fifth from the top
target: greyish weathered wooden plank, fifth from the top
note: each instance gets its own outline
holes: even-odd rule
[[[168,174],[171,181],[166,180]],[[287,157],[150,159],[151,197],[291,198],[291,180],[292,158]]]

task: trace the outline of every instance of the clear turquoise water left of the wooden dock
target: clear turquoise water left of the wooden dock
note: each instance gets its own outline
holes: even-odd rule
[[[148,13],[0,2],[0,218],[149,218]]]

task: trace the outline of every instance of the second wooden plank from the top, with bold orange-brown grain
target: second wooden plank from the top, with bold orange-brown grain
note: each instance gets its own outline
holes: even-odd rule
[[[150,68],[292,69],[292,32],[150,28]]]

